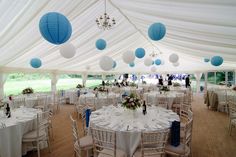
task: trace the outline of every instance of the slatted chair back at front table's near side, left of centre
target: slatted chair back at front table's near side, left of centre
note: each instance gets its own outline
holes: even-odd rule
[[[114,131],[91,128],[91,133],[95,156],[101,154],[101,156],[116,157],[116,133]],[[113,153],[108,154],[107,151],[102,151],[104,149]]]

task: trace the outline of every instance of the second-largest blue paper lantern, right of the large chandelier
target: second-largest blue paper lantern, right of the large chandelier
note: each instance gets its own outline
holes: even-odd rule
[[[162,23],[154,23],[148,28],[148,36],[154,41],[161,40],[166,34],[166,27]]]

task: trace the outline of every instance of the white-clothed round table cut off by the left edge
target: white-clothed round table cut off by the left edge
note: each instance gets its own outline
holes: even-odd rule
[[[37,109],[21,107],[11,111],[11,118],[6,118],[0,110],[1,157],[22,156],[22,137],[36,127],[37,113],[40,112]]]

